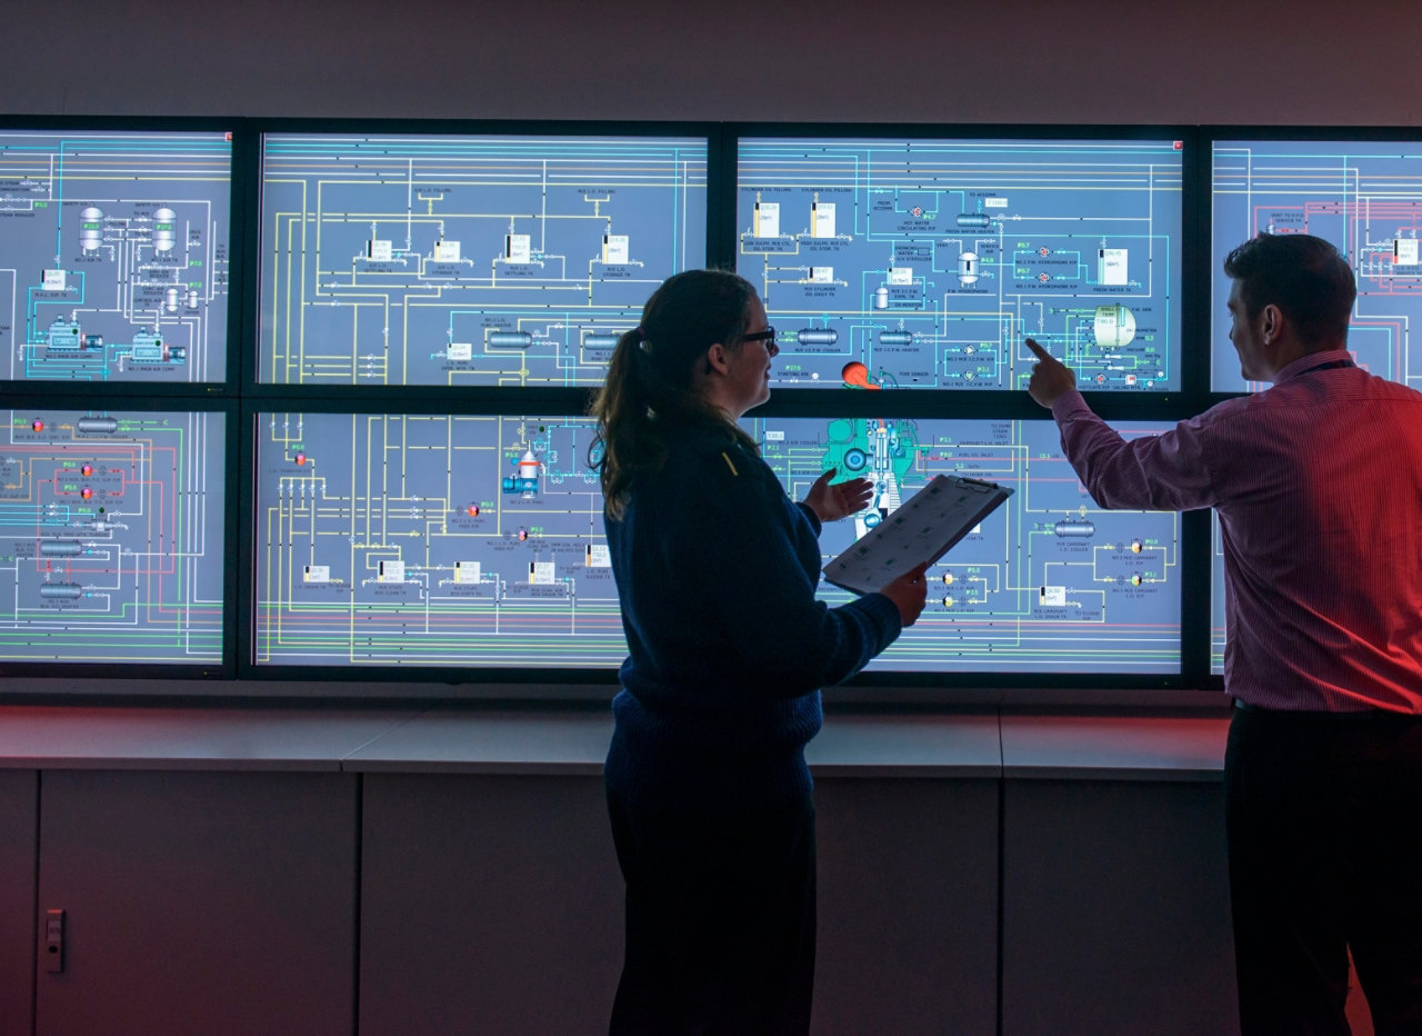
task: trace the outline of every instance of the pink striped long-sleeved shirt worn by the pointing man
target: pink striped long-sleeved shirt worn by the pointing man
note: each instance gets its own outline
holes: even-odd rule
[[[1126,443],[1079,393],[1052,416],[1101,507],[1219,512],[1229,694],[1422,713],[1422,394],[1340,350],[1162,435]]]

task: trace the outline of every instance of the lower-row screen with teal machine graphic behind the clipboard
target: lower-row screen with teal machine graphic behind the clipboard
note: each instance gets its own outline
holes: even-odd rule
[[[1121,428],[1128,437],[1155,430]],[[873,481],[866,511],[825,527],[826,561],[937,474],[1014,490],[930,568],[927,608],[870,669],[1177,670],[1179,517],[1098,508],[1051,421],[764,418],[752,434],[796,500],[829,468],[836,480]],[[820,596],[848,599],[829,583]]]

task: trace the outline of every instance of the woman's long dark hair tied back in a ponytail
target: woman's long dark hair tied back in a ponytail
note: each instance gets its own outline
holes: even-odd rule
[[[647,299],[641,326],[617,339],[590,408],[597,435],[589,462],[602,478],[609,517],[621,517],[640,472],[665,462],[665,423],[707,424],[757,453],[755,441],[701,397],[695,376],[717,342],[741,346],[752,299],[751,282],[728,270],[677,273]]]

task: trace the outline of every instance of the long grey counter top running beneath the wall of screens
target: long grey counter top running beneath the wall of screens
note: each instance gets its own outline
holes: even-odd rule
[[[602,710],[0,707],[0,768],[602,773]],[[1224,717],[830,714],[822,776],[1217,780]]]

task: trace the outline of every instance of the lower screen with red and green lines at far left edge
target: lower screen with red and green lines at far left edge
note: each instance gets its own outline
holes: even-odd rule
[[[220,663],[225,416],[4,414],[0,660]]]

